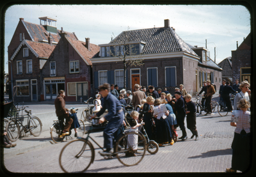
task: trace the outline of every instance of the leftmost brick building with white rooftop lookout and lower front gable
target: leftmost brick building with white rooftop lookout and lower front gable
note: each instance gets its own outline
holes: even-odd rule
[[[44,100],[44,89],[41,89],[44,88],[44,82],[40,74],[46,60],[60,40],[63,30],[62,27],[61,31],[57,29],[57,20],[54,18],[40,17],[39,19],[40,24],[33,24],[20,18],[8,46],[8,60],[11,62],[8,66],[9,81],[13,86],[22,85],[16,92],[15,101]],[[74,32],[66,32],[66,35],[68,38],[77,40]],[[8,84],[10,87],[11,83]],[[9,98],[12,99],[12,92],[9,93]]]

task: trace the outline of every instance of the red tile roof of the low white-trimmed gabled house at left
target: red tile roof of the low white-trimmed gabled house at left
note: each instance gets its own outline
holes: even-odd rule
[[[26,40],[29,46],[35,50],[38,57],[49,58],[56,45],[49,45],[49,43],[38,43]]]

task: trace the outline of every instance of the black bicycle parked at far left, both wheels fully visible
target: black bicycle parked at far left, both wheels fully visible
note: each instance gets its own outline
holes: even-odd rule
[[[25,110],[25,108],[28,108],[28,106],[24,107],[19,111],[24,110],[27,113],[27,125],[22,124],[21,118],[25,117],[20,117],[19,112],[17,113],[17,116],[15,118],[12,117],[11,120],[6,124],[7,137],[12,142],[16,141],[20,137],[22,131],[24,131],[25,136],[26,133],[30,132],[30,134],[32,134],[35,137],[40,136],[42,132],[41,120],[38,117],[31,117],[31,110],[27,111]],[[20,126],[22,127],[21,130]]]

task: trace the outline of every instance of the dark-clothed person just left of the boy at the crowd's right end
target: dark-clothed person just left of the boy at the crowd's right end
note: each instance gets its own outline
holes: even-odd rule
[[[177,123],[180,126],[180,130],[182,131],[182,136],[179,139],[183,141],[188,139],[186,127],[184,124],[184,120],[186,117],[186,111],[184,106],[184,99],[181,97],[181,92],[175,92],[175,110],[177,115]]]

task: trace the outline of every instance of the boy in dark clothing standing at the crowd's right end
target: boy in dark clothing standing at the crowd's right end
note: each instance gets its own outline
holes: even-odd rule
[[[191,95],[187,94],[185,96],[186,105],[187,105],[187,127],[192,132],[191,139],[196,136],[196,141],[198,140],[198,132],[196,130],[196,105],[191,101]]]

